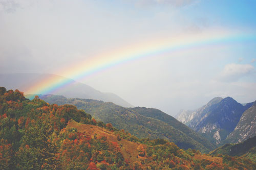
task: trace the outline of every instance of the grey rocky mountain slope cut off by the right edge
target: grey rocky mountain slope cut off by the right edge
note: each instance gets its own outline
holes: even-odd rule
[[[226,141],[237,143],[256,136],[256,101],[241,116],[234,131],[231,132]]]

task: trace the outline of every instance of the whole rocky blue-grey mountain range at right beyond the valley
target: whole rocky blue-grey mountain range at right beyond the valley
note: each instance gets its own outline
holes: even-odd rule
[[[218,97],[195,111],[182,111],[176,118],[212,143],[241,142],[255,136],[254,105]]]

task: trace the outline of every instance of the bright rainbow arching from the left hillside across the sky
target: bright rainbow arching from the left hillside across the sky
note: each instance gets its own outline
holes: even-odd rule
[[[150,57],[158,57],[168,54],[171,57],[174,53],[181,53],[188,50],[204,49],[214,45],[225,45],[241,41],[256,40],[256,34],[245,34],[237,32],[212,31],[200,33],[198,35],[183,35],[168,37],[152,41],[146,41],[137,44],[126,45],[114,52],[100,54],[90,59],[79,61],[69,66],[69,68],[60,69],[56,75],[65,75],[75,81],[85,79],[97,72],[106,70],[116,65],[141,60]],[[51,94],[74,81],[71,79],[56,79],[49,76],[35,84],[31,85],[25,94]]]

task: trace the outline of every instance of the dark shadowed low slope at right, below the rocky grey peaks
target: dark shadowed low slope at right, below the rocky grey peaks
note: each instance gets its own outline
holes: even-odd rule
[[[256,162],[256,136],[248,138],[238,144],[227,143],[220,148],[210,152],[211,155],[244,156]]]

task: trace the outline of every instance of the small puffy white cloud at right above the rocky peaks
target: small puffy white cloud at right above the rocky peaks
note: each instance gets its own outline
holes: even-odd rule
[[[227,64],[221,72],[220,79],[223,81],[237,81],[242,77],[252,74],[254,67],[250,64]]]

